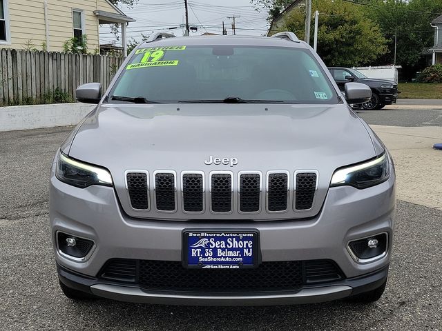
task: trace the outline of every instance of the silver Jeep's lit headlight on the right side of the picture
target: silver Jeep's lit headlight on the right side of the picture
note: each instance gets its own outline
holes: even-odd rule
[[[384,152],[381,157],[372,161],[336,170],[330,186],[351,185],[359,189],[369,188],[383,183],[389,176],[390,164],[387,153]]]

